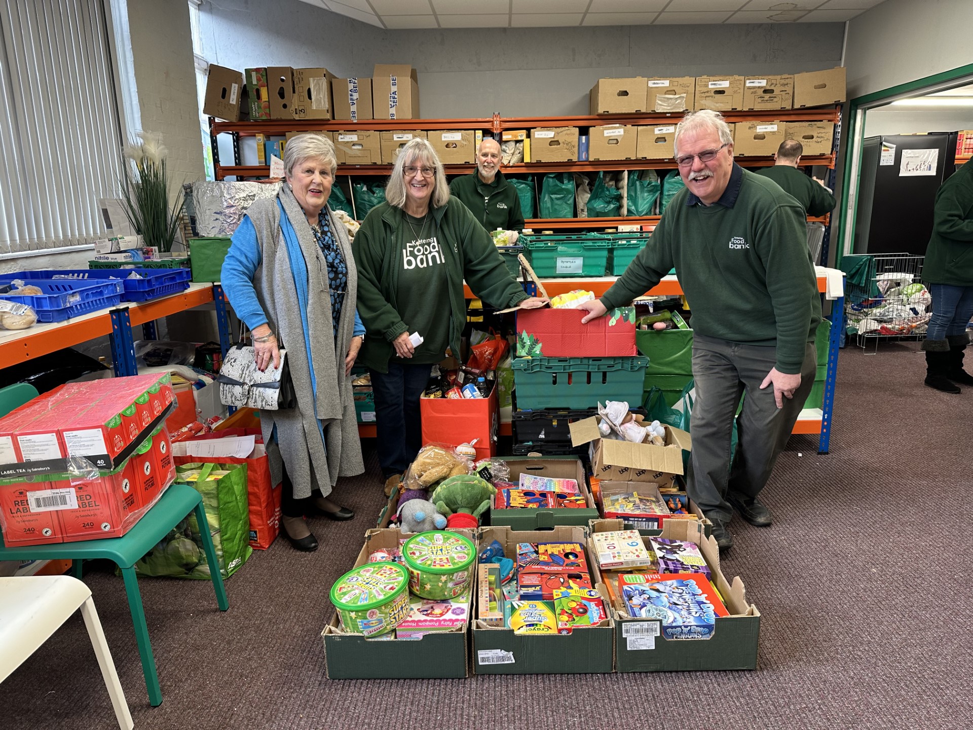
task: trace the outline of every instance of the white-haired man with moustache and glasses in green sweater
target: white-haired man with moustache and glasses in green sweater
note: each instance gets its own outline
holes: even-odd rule
[[[687,489],[726,549],[733,545],[727,529],[733,508],[751,525],[772,522],[757,495],[811,392],[821,304],[804,209],[775,183],[734,163],[733,136],[718,112],[683,119],[675,158],[685,189],[625,274],[600,300],[581,305],[590,312],[582,322],[628,304],[675,268],[694,329]]]

